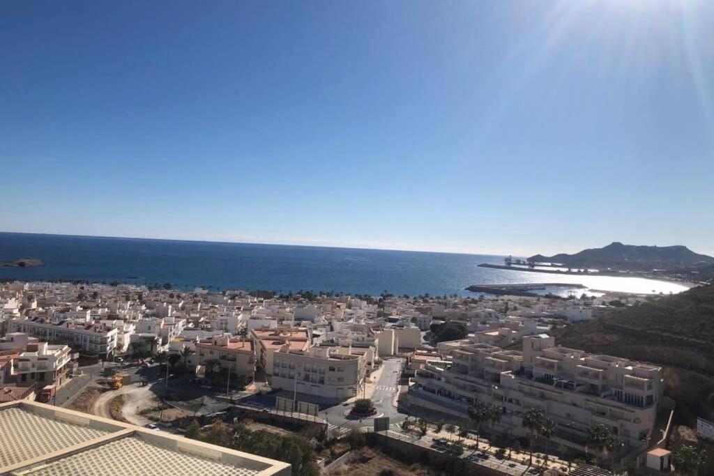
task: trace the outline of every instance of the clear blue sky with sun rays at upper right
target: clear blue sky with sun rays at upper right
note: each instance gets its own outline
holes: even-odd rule
[[[13,1],[0,230],[714,254],[714,2]]]

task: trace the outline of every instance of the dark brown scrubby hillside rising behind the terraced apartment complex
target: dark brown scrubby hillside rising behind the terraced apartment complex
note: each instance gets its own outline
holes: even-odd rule
[[[555,332],[559,345],[662,365],[680,422],[714,417],[714,285],[635,305]]]

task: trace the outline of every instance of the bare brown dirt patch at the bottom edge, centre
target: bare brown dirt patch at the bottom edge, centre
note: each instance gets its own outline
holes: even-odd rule
[[[372,448],[362,448],[354,452],[346,465],[328,472],[330,476],[436,476],[438,474],[418,464],[405,465]]]

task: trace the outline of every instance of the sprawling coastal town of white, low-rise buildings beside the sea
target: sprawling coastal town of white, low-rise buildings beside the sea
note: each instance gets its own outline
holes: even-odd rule
[[[210,438],[216,422],[239,420],[253,432],[311,431],[310,467],[331,474],[351,474],[365,435],[468,474],[666,469],[675,402],[663,368],[557,340],[658,297],[497,294],[8,281],[0,402],[166,437]]]

